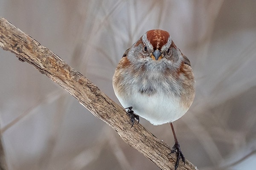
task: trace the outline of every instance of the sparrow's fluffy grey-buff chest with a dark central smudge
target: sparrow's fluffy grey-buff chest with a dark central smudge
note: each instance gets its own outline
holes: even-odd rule
[[[130,80],[130,81],[126,81]],[[180,83],[170,74],[169,68],[141,65],[124,76],[128,91],[147,96],[166,94],[180,96]]]

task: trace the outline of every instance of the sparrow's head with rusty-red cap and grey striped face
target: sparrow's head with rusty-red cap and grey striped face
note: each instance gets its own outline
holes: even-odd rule
[[[153,29],[147,31],[134,43],[128,53],[130,61],[150,62],[154,65],[171,65],[178,68],[182,62],[190,65],[189,60],[184,56],[172,41],[167,31]]]

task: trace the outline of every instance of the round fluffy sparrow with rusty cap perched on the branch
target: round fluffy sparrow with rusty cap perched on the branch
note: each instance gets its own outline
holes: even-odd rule
[[[128,48],[113,75],[114,93],[128,109],[131,127],[140,117],[153,125],[169,123],[177,150],[175,170],[185,157],[172,122],[183,116],[195,98],[195,77],[189,59],[175,45],[168,31],[153,29]],[[171,154],[170,153],[170,154]]]

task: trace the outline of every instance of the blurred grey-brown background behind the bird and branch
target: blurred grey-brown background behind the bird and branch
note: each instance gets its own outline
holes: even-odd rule
[[[1,0],[0,16],[114,101],[112,76],[146,31],[169,31],[191,61],[196,96],[174,123],[200,170],[256,167],[255,0]],[[0,49],[0,128],[9,170],[157,170],[76,99]],[[148,130],[170,146],[169,124]]]

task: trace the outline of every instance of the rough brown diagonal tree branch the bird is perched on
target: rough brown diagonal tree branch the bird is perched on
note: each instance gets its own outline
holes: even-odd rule
[[[130,118],[123,108],[60,57],[2,17],[0,17],[0,47],[11,51],[21,61],[33,65],[42,74],[66,89],[81,105],[110,125],[128,145],[137,149],[160,169],[174,169],[176,154],[168,156],[171,147],[140,124],[130,128]],[[186,161],[184,166],[180,163],[179,169],[195,170],[196,167]]]

